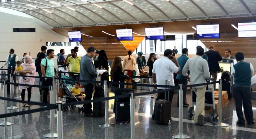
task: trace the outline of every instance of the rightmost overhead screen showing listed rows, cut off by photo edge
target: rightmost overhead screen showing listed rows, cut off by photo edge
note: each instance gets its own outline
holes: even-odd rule
[[[256,37],[256,23],[238,23],[238,37]]]

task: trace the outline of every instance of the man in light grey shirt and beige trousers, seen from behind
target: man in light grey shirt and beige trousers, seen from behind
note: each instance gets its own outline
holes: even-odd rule
[[[197,56],[188,59],[182,70],[182,74],[188,80],[191,80],[191,84],[206,83],[206,80],[210,78],[210,72],[207,61],[202,58],[204,55],[204,48],[197,48],[196,55]],[[188,76],[188,70],[190,71],[190,76]],[[204,94],[206,91],[206,85],[192,87],[192,89],[196,94],[194,123],[204,125]]]

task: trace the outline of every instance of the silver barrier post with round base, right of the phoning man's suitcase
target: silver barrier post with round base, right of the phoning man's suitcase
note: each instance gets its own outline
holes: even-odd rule
[[[179,134],[173,134],[172,138],[175,139],[189,139],[191,136],[183,134],[183,90],[182,84],[179,84]]]

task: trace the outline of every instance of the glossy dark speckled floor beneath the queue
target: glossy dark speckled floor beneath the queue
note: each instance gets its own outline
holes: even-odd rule
[[[14,89],[15,91],[17,89]],[[3,96],[3,91],[0,90],[0,96]],[[144,92],[135,90],[135,92]],[[110,96],[113,94],[110,93]],[[9,95],[8,95],[9,97]],[[27,96],[25,97],[27,98]],[[191,106],[191,95],[187,93],[187,100]],[[40,101],[40,95],[37,88],[34,88],[31,101]],[[109,101],[110,112],[109,121],[115,122],[113,114],[113,100]],[[0,113],[3,114],[3,100],[0,100]],[[174,95],[172,102],[171,117],[173,122],[171,125],[157,124],[151,118],[155,98],[151,99],[150,95],[140,96],[135,98],[135,138],[154,139],[154,138],[171,138],[172,134],[178,133],[179,129],[179,109],[177,107],[177,94]],[[41,106],[32,105],[29,108],[24,108],[19,103],[14,103],[19,107],[17,110],[8,112],[24,111],[29,109],[40,108]],[[256,100],[252,100],[253,106],[256,106]],[[10,103],[8,102],[8,106]],[[254,113],[256,107],[253,107]],[[187,119],[188,108],[183,108],[183,131],[185,134],[191,135],[193,139],[254,139],[256,138],[256,124],[239,127],[236,125],[237,116],[235,111],[234,99],[229,101],[229,104],[223,109],[223,122],[229,124],[227,128],[218,128],[212,126],[210,118],[206,116],[206,124],[204,126],[194,125],[192,120]],[[43,134],[50,133],[50,118],[47,118],[49,111],[36,112],[26,115],[14,116],[8,118],[9,122],[13,122],[12,126],[0,126],[0,138],[15,138],[15,139],[38,139],[43,138]],[[256,116],[254,114],[254,119]],[[0,119],[3,122],[3,119]],[[55,120],[55,123],[57,121]],[[78,113],[78,108],[63,112],[63,130],[64,139],[86,138],[86,139],[128,139],[130,138],[130,124],[116,123],[112,128],[100,128],[99,124],[104,123],[105,118],[84,117]],[[56,127],[55,127],[55,131]]]

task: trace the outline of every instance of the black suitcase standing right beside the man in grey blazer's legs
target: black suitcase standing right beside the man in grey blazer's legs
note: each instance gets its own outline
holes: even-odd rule
[[[104,98],[104,89],[100,85],[96,85],[94,89],[93,99]],[[101,102],[93,102],[93,111],[92,114],[94,117],[102,117],[105,116],[105,103]]]

